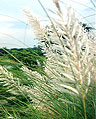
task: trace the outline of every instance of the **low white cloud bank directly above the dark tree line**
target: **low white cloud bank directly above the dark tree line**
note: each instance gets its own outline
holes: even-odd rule
[[[34,35],[29,28],[13,28],[13,26],[14,24],[7,23],[5,27],[0,27],[0,47],[22,48],[33,47],[37,44],[37,42],[33,40]]]

